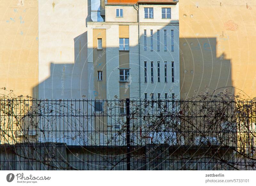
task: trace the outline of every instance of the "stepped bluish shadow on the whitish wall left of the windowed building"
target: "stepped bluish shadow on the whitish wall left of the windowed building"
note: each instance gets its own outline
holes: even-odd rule
[[[87,95],[87,31],[74,38],[74,62],[49,64],[50,77],[40,82],[33,93],[38,99],[84,99]]]

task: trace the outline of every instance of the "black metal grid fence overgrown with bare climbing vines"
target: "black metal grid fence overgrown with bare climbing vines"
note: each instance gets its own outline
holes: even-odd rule
[[[0,100],[1,170],[254,170],[256,102]]]

